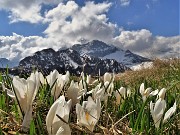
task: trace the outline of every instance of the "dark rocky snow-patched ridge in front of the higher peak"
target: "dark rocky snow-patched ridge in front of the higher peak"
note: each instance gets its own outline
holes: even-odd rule
[[[129,68],[113,59],[100,59],[89,55],[81,56],[77,51],[65,49],[54,51],[45,49],[36,52],[33,56],[24,58],[19,63],[19,68],[24,72],[31,72],[33,69],[39,69],[43,72],[50,72],[57,69],[60,73],[70,71],[78,75],[82,71],[88,74],[96,75],[105,72],[124,72]]]

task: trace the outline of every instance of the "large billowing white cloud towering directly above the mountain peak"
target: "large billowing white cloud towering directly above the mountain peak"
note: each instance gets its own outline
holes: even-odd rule
[[[44,33],[56,40],[71,44],[83,39],[99,39],[108,42],[113,38],[116,25],[108,22],[106,12],[111,3],[87,2],[79,7],[74,1],[60,3],[46,14],[45,21],[49,22]]]

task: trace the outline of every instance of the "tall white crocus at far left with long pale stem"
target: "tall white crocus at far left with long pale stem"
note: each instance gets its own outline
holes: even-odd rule
[[[18,76],[13,77],[13,88],[19,101],[22,112],[25,114],[22,123],[22,130],[27,131],[32,118],[32,103],[38,92],[40,80],[39,72],[31,73],[30,77],[25,80]],[[6,89],[7,94],[16,100],[15,93]]]

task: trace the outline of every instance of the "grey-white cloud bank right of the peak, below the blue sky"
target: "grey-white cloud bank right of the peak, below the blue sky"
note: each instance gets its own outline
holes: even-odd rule
[[[113,43],[146,57],[177,57],[180,51],[180,36],[153,36],[146,29],[121,31],[121,34],[113,39]]]

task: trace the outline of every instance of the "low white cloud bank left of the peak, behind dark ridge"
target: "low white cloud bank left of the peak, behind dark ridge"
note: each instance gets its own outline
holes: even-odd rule
[[[54,42],[51,38],[39,36],[24,37],[13,33],[12,36],[0,36],[0,57],[19,62],[24,57],[46,48],[58,50],[63,44]]]

